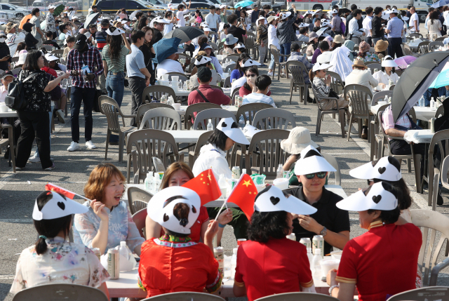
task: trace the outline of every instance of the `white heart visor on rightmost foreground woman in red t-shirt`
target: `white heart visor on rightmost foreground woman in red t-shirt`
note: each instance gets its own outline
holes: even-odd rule
[[[398,206],[398,199],[391,193],[388,182],[378,182],[365,191],[358,190],[346,199],[339,201],[336,206],[347,211],[394,210]]]

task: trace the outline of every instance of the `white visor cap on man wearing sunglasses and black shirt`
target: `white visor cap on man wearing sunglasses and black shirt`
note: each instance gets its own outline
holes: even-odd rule
[[[300,159],[295,163],[295,175],[309,175],[326,171],[335,171],[335,168],[321,156],[315,147],[308,145],[302,149]]]

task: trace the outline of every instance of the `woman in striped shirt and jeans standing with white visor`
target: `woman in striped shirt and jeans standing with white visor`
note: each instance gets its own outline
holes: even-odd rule
[[[103,69],[106,77],[106,90],[110,98],[114,98],[119,107],[125,91],[125,58],[131,53],[131,47],[125,32],[116,27],[106,30],[106,46],[102,50]],[[111,135],[109,143],[119,144],[119,136]]]

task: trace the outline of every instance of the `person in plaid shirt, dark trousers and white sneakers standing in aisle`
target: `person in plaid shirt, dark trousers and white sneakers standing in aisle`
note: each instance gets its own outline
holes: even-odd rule
[[[95,71],[95,67],[96,70]],[[100,51],[88,46],[87,36],[76,36],[75,46],[67,55],[67,72],[73,76],[72,95],[70,101],[70,124],[72,128],[72,143],[67,148],[69,152],[79,149],[79,110],[83,102],[84,138],[86,147],[95,149],[92,142],[92,108],[95,98],[95,79],[103,73],[103,63]]]

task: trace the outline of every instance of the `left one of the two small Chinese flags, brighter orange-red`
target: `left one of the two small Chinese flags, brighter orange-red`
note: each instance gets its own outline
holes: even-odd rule
[[[220,190],[220,186],[218,186],[217,180],[215,180],[212,169],[204,170],[182,186],[192,189],[199,195],[201,206],[210,201],[215,201],[222,195],[222,191]]]

